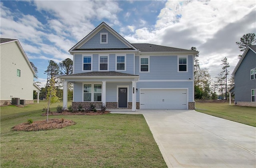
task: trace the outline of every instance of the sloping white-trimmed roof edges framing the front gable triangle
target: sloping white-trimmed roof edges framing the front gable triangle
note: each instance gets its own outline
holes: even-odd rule
[[[87,36],[85,36],[80,42],[76,43],[70,50],[69,52],[76,51],[78,49],[77,47],[82,46],[84,43],[88,42],[95,34],[97,34],[100,30],[103,28],[106,28],[110,33],[112,33],[116,38],[118,38],[121,42],[123,42],[127,47],[132,48],[134,50],[137,50],[131,43],[129,43],[127,40],[125,40],[120,34],[118,34],[115,30],[110,28],[105,22],[102,22],[99,26],[97,26],[92,32],[90,32]],[[86,49],[83,49],[86,50]],[[98,49],[95,49],[98,50]],[[109,50],[109,49],[108,49]]]

